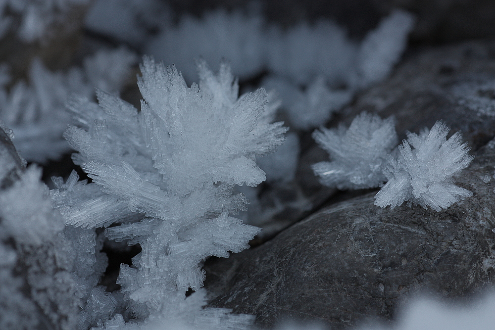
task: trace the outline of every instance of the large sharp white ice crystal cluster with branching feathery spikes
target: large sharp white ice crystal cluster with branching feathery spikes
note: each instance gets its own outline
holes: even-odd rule
[[[108,227],[107,238],[141,245],[117,280],[131,315],[152,314],[156,321],[189,314],[187,322],[207,328],[227,312],[202,310],[199,303],[188,310],[184,304],[192,300],[184,302],[185,292],[202,286],[202,260],[240,252],[259,232],[230,216],[246,203],[232,189],[265,180],[255,157],[274,151],[287,129],[263,117],[263,89],[238,97],[227,64],[215,75],[200,62],[198,71],[199,86],[188,87],[175,67],[145,57],[141,111],[101,90],[99,104],[74,100],[79,127],[70,126],[65,137],[93,183],[73,174],[66,183],[56,179],[52,195],[67,225]],[[239,326],[251,321],[222,318]]]

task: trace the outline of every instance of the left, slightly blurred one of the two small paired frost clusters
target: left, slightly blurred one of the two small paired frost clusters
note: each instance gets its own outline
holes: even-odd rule
[[[363,112],[348,129],[322,128],[313,133],[313,138],[332,159],[312,166],[323,185],[341,190],[365,189],[380,187],[386,181],[382,164],[397,144],[393,117],[382,119]]]

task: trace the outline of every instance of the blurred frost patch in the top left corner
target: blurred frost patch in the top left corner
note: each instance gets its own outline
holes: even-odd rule
[[[0,38],[16,31],[24,42],[45,42],[54,28],[68,28],[71,11],[87,5],[90,0],[3,0],[0,3]],[[20,22],[15,17],[20,16]]]

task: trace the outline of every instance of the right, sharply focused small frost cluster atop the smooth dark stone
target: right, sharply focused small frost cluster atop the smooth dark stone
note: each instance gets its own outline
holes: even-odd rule
[[[440,211],[472,195],[451,183],[452,175],[474,157],[468,154],[470,148],[459,132],[446,140],[449,130],[438,121],[429,132],[407,134],[408,140],[398,147],[398,159],[389,159],[385,172],[389,182],[376,194],[375,205],[394,208],[408,201],[409,206],[419,204]]]

